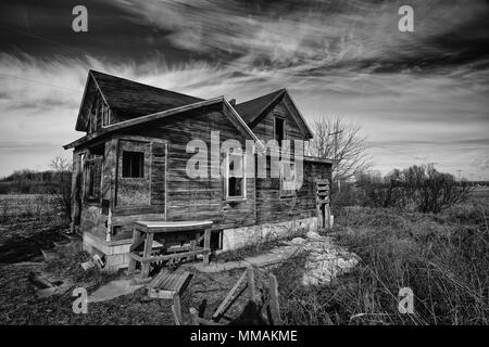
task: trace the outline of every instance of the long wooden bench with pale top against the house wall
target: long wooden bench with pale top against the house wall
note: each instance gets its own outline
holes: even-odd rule
[[[197,255],[203,255],[204,265],[209,265],[211,255],[211,227],[210,220],[198,221],[136,221],[134,223],[133,231],[133,245],[129,248],[129,273],[134,273],[136,270],[136,264],[141,264],[141,277],[140,280],[145,281],[149,277],[150,264],[163,260],[176,260],[181,258],[192,258]],[[203,247],[200,247],[201,242],[200,233],[203,234]],[[160,241],[165,239],[165,234],[178,233],[178,232],[191,232],[196,233],[193,240],[190,241],[190,246],[180,247],[177,250],[184,250],[174,254],[164,254],[152,256],[153,239],[154,234],[161,236]],[[142,255],[139,254],[137,248],[143,244]]]

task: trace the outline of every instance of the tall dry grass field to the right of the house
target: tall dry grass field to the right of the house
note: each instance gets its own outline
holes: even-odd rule
[[[361,265],[328,287],[297,287],[284,265],[283,314],[289,324],[488,324],[489,193],[438,215],[346,207],[335,239]],[[414,293],[414,314],[398,310],[398,293]]]

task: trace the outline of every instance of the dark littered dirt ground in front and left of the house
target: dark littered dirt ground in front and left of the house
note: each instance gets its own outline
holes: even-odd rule
[[[0,228],[0,324],[174,324],[172,301],[150,299],[146,288],[109,301],[90,303],[86,314],[74,313],[75,287],[84,287],[90,294],[112,280],[126,279],[125,271],[104,273],[97,268],[84,271],[80,264],[90,259],[84,252],[43,262],[40,249],[52,248],[53,242],[65,240],[66,224],[27,219],[2,223]],[[243,270],[212,274],[189,271],[193,277],[181,298],[184,323],[190,322],[190,307],[203,310],[204,317],[210,318]],[[268,271],[255,271],[259,291],[267,283]],[[29,280],[33,273],[61,281],[68,279],[74,284],[63,295],[38,298]],[[226,317],[236,318],[246,303],[244,293]]]

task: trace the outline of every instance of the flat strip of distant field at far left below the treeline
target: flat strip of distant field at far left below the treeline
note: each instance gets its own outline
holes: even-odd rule
[[[57,200],[51,194],[0,195],[0,220],[20,217],[42,217],[59,211]]]

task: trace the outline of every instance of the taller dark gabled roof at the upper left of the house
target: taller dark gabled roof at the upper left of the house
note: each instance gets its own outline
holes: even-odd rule
[[[90,69],[76,130],[86,130],[86,123],[82,116],[86,112],[84,104],[89,89],[99,89],[108,106],[116,111],[120,116],[127,118],[136,118],[203,100]]]

